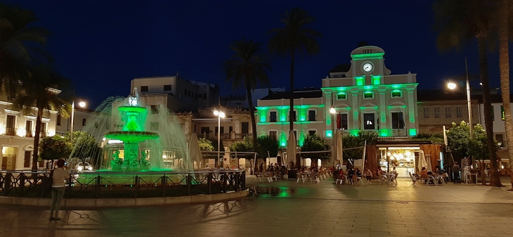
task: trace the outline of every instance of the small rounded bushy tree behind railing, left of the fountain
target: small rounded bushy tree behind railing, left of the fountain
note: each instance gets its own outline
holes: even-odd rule
[[[46,136],[39,143],[39,157],[43,160],[66,159],[71,153],[70,143],[62,136]]]

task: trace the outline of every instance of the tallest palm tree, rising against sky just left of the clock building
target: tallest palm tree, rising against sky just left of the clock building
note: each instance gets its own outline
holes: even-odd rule
[[[308,12],[300,8],[292,8],[285,11],[281,22],[285,24],[283,28],[275,28],[270,31],[273,37],[269,40],[269,50],[278,56],[285,57],[290,55],[290,117],[294,117],[294,61],[296,51],[300,56],[306,52],[309,56],[319,52],[319,44],[316,37],[321,34],[316,30],[308,28],[307,25],[315,20]],[[294,130],[294,120],[290,120],[290,131]],[[296,138],[297,139],[297,138]]]

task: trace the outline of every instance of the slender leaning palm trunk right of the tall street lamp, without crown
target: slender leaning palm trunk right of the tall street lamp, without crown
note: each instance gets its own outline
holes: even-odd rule
[[[492,120],[492,103],[490,96],[490,82],[488,80],[488,60],[486,59],[486,34],[477,36],[477,44],[479,48],[479,72],[481,83],[483,84],[483,107],[484,107],[484,124],[486,129],[486,144],[488,146],[488,158],[490,159],[490,186],[500,187],[500,176],[497,170],[497,158],[495,155],[495,141],[493,141],[493,120]],[[484,184],[486,185],[486,184]]]

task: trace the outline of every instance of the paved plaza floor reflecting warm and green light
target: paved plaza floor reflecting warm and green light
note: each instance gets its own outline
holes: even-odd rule
[[[513,192],[470,184],[254,182],[221,203],[98,210],[0,205],[0,236],[513,236]],[[504,179],[503,184],[509,184]]]

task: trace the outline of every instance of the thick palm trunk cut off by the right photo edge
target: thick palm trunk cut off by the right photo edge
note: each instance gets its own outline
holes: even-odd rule
[[[502,108],[504,108],[507,153],[509,155],[509,166],[513,171],[513,124],[511,117],[511,106],[509,104],[509,47],[507,37],[508,1],[501,0],[499,6],[499,70],[500,70],[500,91],[502,94]],[[513,172],[511,174],[511,185],[513,191]]]

